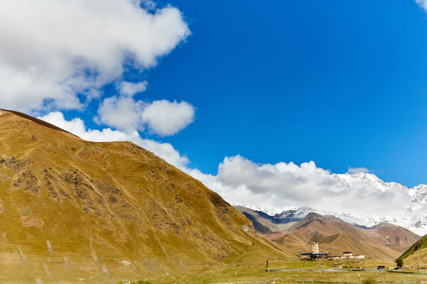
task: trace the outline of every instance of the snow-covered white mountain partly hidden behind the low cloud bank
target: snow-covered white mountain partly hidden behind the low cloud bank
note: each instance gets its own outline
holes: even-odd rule
[[[369,184],[378,191],[389,191],[391,189],[406,191],[412,198],[410,205],[407,207],[407,214],[405,214],[405,216],[387,216],[384,214],[384,216],[359,217],[352,216],[346,212],[321,212],[310,207],[300,207],[274,214],[274,217],[297,221],[303,219],[308,213],[315,212],[322,215],[334,215],[347,223],[357,224],[359,226],[372,227],[378,223],[392,223],[397,226],[405,227],[419,235],[427,234],[427,212],[423,210],[423,208],[427,207],[426,184],[408,188],[397,182],[384,182],[371,173],[345,173],[332,174],[331,176],[343,184],[348,190],[352,190],[354,186]]]

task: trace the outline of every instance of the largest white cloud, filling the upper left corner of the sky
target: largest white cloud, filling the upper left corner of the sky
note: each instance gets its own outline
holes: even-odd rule
[[[0,1],[1,106],[82,109],[120,81],[124,63],[156,65],[190,31],[177,8],[153,9],[135,0]],[[144,82],[121,88],[143,89]]]

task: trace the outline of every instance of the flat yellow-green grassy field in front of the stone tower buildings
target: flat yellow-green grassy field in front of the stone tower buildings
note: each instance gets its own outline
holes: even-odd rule
[[[339,267],[393,267],[392,262],[362,260],[335,262]],[[269,269],[321,270],[334,267],[332,261],[280,261],[273,260]],[[166,275],[150,279],[151,283],[361,283],[373,279],[377,283],[427,283],[427,274],[403,274],[387,271],[271,271],[266,262],[250,262],[210,267],[203,265],[187,269],[183,274]],[[417,271],[419,272],[419,271]]]

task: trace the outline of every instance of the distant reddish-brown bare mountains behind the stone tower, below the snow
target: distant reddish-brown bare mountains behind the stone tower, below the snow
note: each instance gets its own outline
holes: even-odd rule
[[[310,210],[298,221],[292,219],[298,210],[287,212],[285,218],[265,216],[263,212],[236,207],[253,221],[255,230],[294,253],[310,251],[311,239],[319,242],[322,251],[342,255],[343,251],[366,255],[369,258],[394,260],[421,237],[400,226],[380,223],[373,228],[363,228]],[[308,212],[306,214],[306,212]],[[304,215],[303,214],[303,215]]]

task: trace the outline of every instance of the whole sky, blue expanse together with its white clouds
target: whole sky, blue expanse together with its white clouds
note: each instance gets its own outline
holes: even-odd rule
[[[327,208],[348,198],[331,173],[427,183],[426,10],[425,0],[0,3],[0,106],[90,141],[138,143],[230,203],[322,197]],[[410,203],[353,191],[355,209]]]

